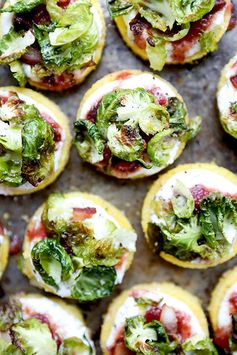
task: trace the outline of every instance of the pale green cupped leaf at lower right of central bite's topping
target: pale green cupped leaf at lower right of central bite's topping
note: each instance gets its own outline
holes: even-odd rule
[[[148,142],[147,153],[156,166],[165,166],[169,163],[172,149],[177,144],[177,138],[172,134],[171,129],[166,129],[157,133]]]

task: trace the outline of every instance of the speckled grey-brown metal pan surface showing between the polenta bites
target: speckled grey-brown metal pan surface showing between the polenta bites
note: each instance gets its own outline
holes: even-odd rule
[[[103,0],[104,1],[104,0]],[[234,0],[237,8],[237,0]],[[71,128],[76,119],[79,102],[88,88],[103,75],[121,69],[148,70],[148,65],[127,48],[111,23],[108,12],[103,4],[107,21],[107,40],[102,61],[97,70],[80,86],[62,94],[47,93],[69,116]],[[237,140],[227,135],[221,128],[216,108],[216,85],[223,66],[234,56],[237,49],[237,27],[228,32],[219,44],[219,51],[208,55],[195,65],[165,67],[161,76],[169,80],[183,96],[187,103],[190,116],[202,115],[203,128],[197,138],[190,142],[177,164],[191,162],[215,161],[237,173]],[[0,68],[0,86],[16,84],[7,68]],[[6,227],[23,239],[28,218],[40,206],[52,191],[81,190],[98,194],[123,210],[135,227],[139,238],[137,252],[132,267],[125,280],[117,287],[112,297],[122,289],[130,288],[137,283],[151,281],[175,282],[200,297],[204,306],[220,275],[228,268],[237,264],[237,257],[230,262],[209,270],[185,270],[172,266],[154,257],[148,249],[140,225],[140,211],[145,194],[156,176],[137,181],[118,181],[104,176],[80,162],[76,149],[73,148],[69,164],[60,178],[43,191],[22,197],[0,197],[0,216]],[[10,258],[8,269],[1,281],[2,295],[19,291],[34,290],[29,286],[16,267],[16,257]],[[35,290],[38,292],[38,290]],[[105,313],[111,298],[103,299],[82,308],[87,322],[92,329],[93,338],[98,346],[101,317]],[[101,354],[98,348],[98,354]]]

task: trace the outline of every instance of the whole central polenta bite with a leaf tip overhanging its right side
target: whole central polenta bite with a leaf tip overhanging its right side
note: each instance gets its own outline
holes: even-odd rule
[[[172,164],[201,119],[189,120],[176,89],[149,72],[106,75],[85,94],[75,122],[81,159],[117,178],[140,178]]]

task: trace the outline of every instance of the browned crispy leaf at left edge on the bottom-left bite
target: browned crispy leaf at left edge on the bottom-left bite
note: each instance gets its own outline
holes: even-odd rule
[[[22,320],[21,304],[11,300],[0,305],[0,331],[5,332],[11,326]]]

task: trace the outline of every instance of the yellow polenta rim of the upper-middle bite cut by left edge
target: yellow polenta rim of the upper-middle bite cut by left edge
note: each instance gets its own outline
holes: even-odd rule
[[[62,131],[64,133],[64,143],[61,148],[61,156],[59,159],[58,167],[56,171],[53,171],[46,179],[44,179],[38,186],[30,186],[27,188],[24,188],[24,185],[21,185],[19,187],[11,187],[7,186],[5,184],[0,184],[0,189],[3,190],[0,194],[3,195],[24,195],[24,194],[30,194],[39,190],[44,189],[46,186],[52,184],[54,180],[57,179],[57,177],[62,173],[62,171],[65,168],[65,165],[68,162],[69,159],[69,154],[70,154],[70,148],[71,148],[71,133],[69,129],[69,123],[68,123],[68,118],[67,116],[60,110],[59,106],[57,106],[54,102],[50,101],[47,99],[45,96],[42,94],[39,94],[31,89],[25,89],[25,88],[19,88],[15,86],[6,86],[6,87],[1,87],[0,91],[13,91],[18,94],[22,94],[24,96],[28,96],[32,100],[35,101],[35,106],[37,107],[37,103],[45,106],[51,114],[51,117],[59,123],[60,127],[62,128]],[[40,110],[42,111],[42,109]]]

